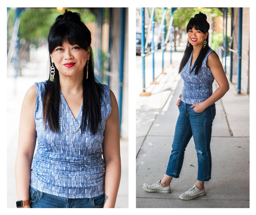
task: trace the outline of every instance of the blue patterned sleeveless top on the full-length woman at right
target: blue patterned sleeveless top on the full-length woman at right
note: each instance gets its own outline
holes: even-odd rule
[[[184,80],[181,99],[184,103],[196,104],[205,101],[212,95],[214,76],[212,75],[210,68],[206,66],[207,57],[212,52],[214,51],[209,48],[203,60],[202,67],[197,75],[194,74],[195,69],[193,69],[191,73],[189,72],[193,52],[191,53],[187,64],[180,71],[180,76]],[[193,68],[194,63],[191,68]]]

